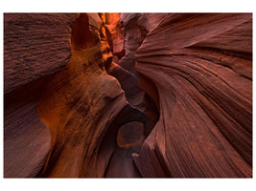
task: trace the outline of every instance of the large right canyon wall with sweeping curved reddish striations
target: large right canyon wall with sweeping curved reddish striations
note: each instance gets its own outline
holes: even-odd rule
[[[160,118],[134,156],[143,177],[252,176],[251,27],[251,14],[169,14],[148,33],[136,70]]]

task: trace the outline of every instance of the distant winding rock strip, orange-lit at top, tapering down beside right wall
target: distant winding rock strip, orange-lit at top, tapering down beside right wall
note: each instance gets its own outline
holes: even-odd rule
[[[113,53],[119,59],[117,64],[112,62],[106,66],[108,74],[116,77],[122,89],[126,93],[128,102],[135,108],[144,111],[151,116],[151,126],[158,118],[157,111],[151,98],[138,88],[138,74],[135,71],[135,53],[144,40],[147,32],[154,29],[163,17],[164,13],[109,13],[107,15],[107,28],[111,33],[110,39],[113,42]],[[122,46],[121,46],[122,45]],[[117,53],[118,48],[119,53]],[[121,51],[122,50],[122,51]],[[125,53],[125,54],[121,54]],[[120,59],[121,58],[121,59]],[[147,130],[151,131],[151,128]]]

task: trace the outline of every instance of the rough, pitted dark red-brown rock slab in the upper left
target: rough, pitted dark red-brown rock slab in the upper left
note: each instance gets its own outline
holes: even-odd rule
[[[56,73],[70,58],[70,30],[77,14],[6,13],[5,94]]]

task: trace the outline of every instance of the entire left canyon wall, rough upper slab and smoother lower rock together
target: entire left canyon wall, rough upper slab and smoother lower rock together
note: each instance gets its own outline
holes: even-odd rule
[[[4,175],[35,177],[50,149],[40,94],[71,56],[77,14],[4,14]]]

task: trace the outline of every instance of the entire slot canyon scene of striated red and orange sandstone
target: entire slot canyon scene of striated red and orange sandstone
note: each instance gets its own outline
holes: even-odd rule
[[[4,176],[250,178],[252,15],[4,16]]]

